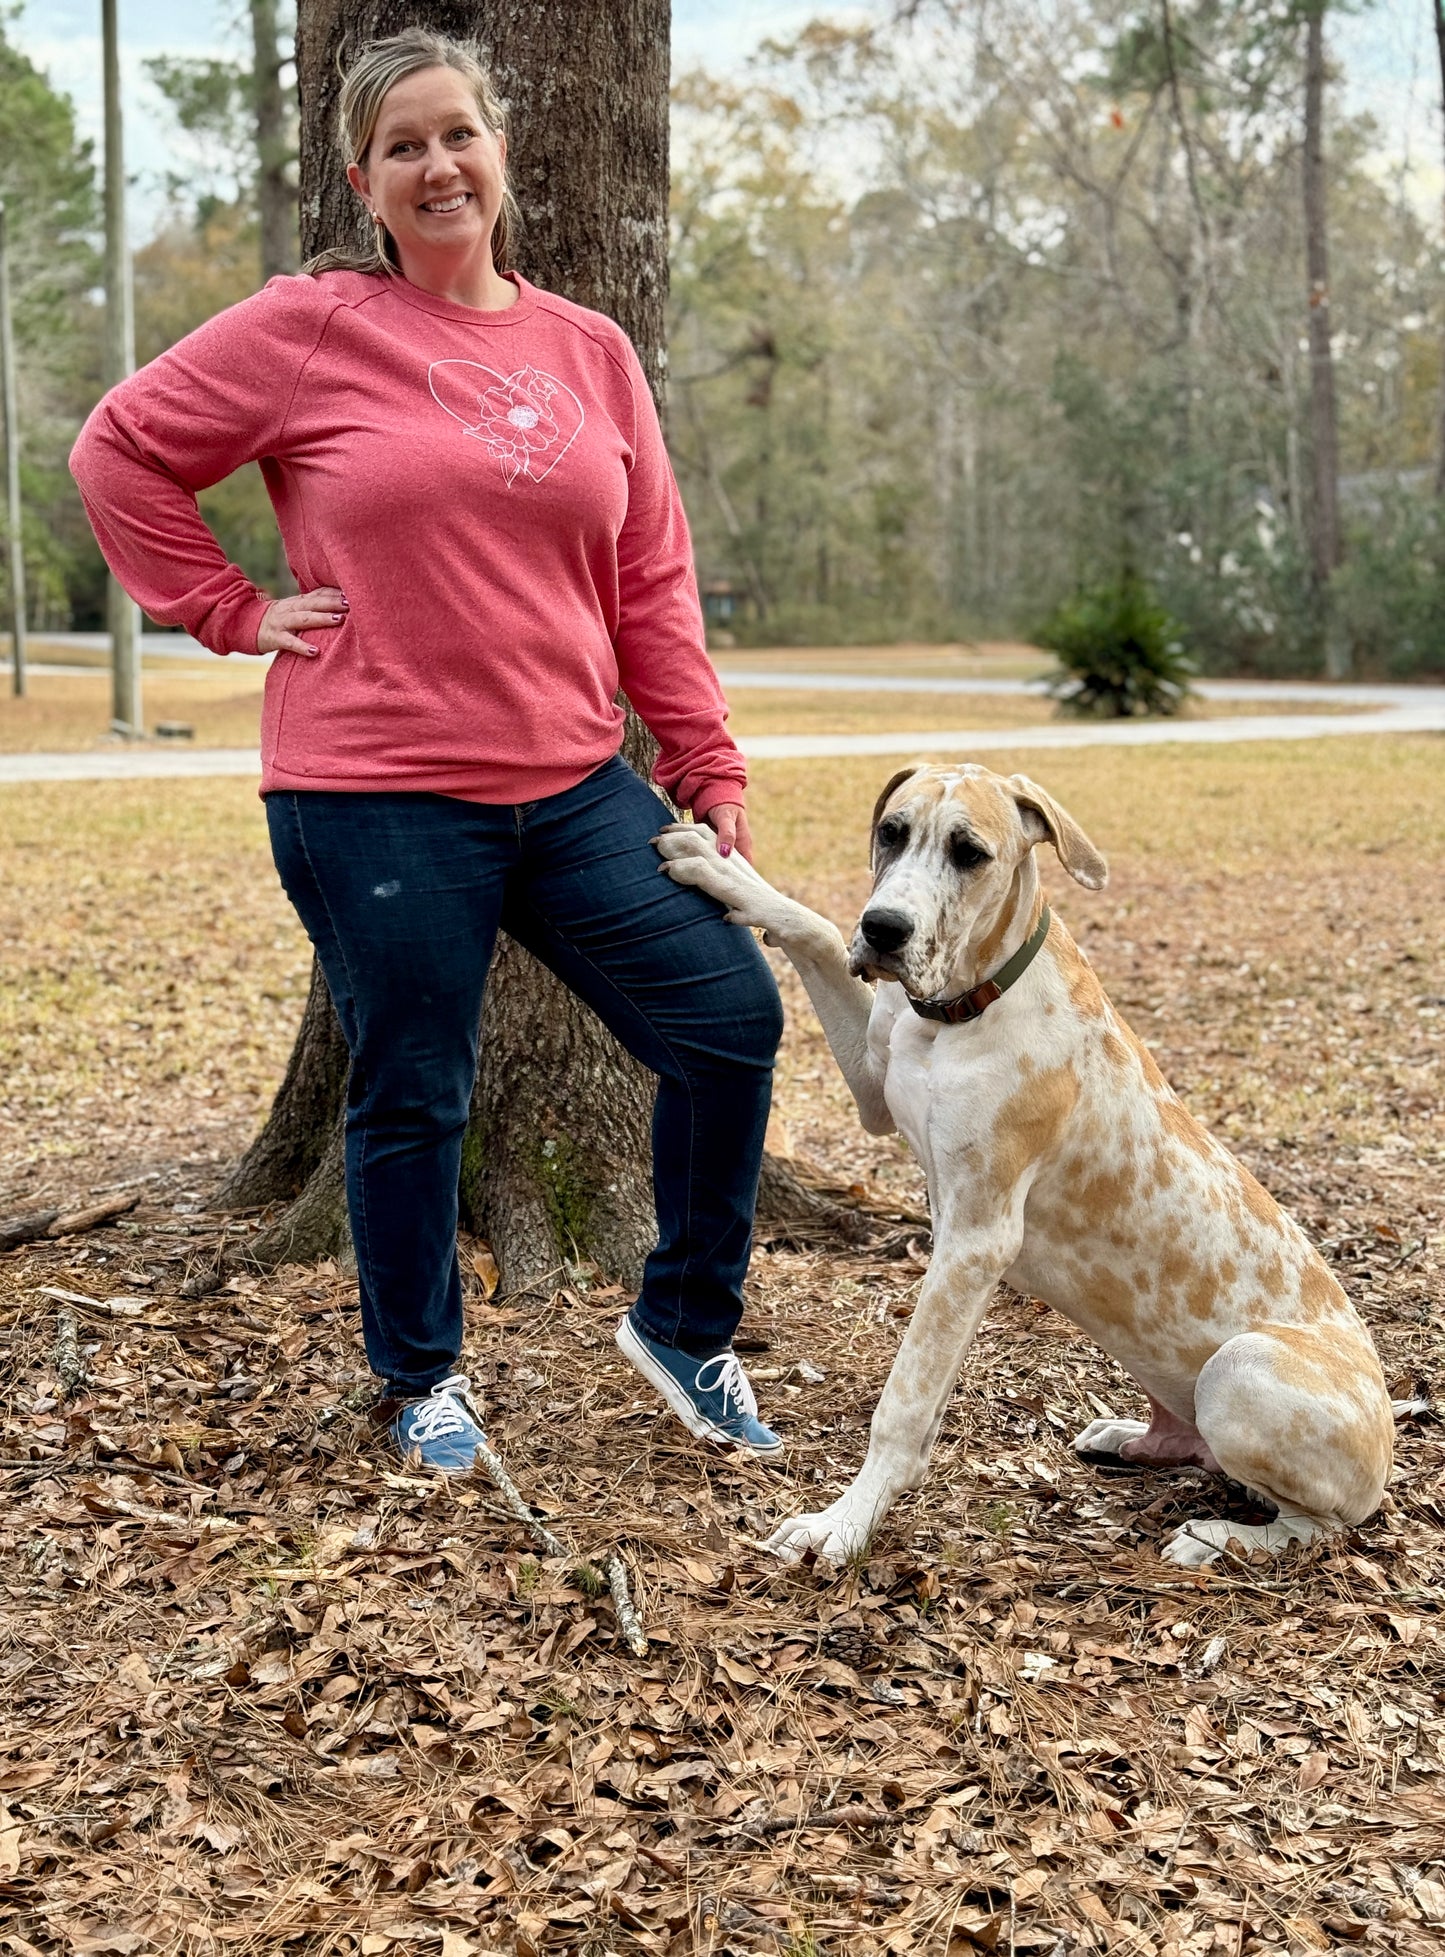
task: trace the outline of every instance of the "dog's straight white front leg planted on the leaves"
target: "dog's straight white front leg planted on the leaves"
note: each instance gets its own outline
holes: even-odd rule
[[[773,1530],[768,1538],[773,1554],[797,1562],[816,1550],[830,1564],[846,1564],[867,1552],[899,1495],[918,1487],[963,1356],[1020,1241],[1022,1231],[1010,1223],[1006,1233],[973,1233],[938,1247],[873,1411],[867,1458],[856,1481],[830,1509],[795,1515]]]

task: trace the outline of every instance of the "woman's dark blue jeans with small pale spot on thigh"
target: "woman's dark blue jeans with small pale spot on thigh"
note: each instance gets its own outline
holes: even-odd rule
[[[750,932],[660,875],[658,796],[615,757],[562,795],[266,796],[276,869],[350,1049],[347,1206],[388,1393],[456,1368],[456,1188],[482,992],[505,928],[658,1076],[658,1245],[640,1329],[709,1356],[742,1315],[777,986]]]

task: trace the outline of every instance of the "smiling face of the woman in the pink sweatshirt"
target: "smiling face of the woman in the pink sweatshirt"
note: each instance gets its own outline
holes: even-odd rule
[[[491,262],[501,211],[505,137],[454,68],[421,68],[390,88],[352,190],[396,239],[403,274],[476,256]]]

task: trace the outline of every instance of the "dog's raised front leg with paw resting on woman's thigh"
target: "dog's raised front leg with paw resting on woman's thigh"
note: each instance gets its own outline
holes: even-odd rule
[[[656,838],[664,869],[674,883],[691,883],[728,906],[730,924],[750,924],[769,945],[787,953],[803,980],[832,1057],[858,1102],[858,1119],[869,1135],[891,1135],[893,1115],[883,1098],[883,1069],[867,1051],[873,988],[848,971],[842,933],[816,910],[775,890],[736,851],[717,853],[713,832],[697,822],[677,822]]]

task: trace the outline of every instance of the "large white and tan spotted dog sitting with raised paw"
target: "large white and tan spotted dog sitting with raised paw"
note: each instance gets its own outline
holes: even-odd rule
[[[1138,1380],[1151,1419],[1104,1419],[1087,1454],[1198,1466],[1279,1517],[1187,1523],[1171,1562],[1230,1538],[1279,1550],[1361,1523],[1390,1472],[1392,1409],[1365,1325],[1292,1217],[1175,1098],[1040,887],[1049,842],[1085,888],[1108,869],[1024,775],[895,775],[873,812],[873,894],[852,947],[705,828],[658,838],[666,869],[797,967],[871,1135],[901,1129],[928,1176],[934,1254],[860,1476],[769,1548],[860,1552],[922,1483],[948,1395],[1004,1278]],[[865,978],[877,980],[877,992]]]

